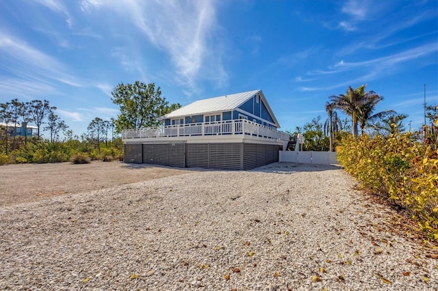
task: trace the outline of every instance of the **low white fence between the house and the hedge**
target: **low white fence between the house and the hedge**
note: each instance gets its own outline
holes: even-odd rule
[[[281,150],[279,153],[279,162],[318,165],[339,164],[336,152],[292,152]]]

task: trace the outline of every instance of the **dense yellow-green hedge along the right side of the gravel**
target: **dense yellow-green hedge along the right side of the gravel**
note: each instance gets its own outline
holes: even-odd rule
[[[436,143],[417,141],[413,133],[387,138],[349,136],[343,139],[337,158],[363,187],[409,210],[428,238],[438,240]]]

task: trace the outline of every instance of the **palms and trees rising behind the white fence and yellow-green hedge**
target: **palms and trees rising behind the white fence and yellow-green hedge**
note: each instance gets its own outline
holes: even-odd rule
[[[318,116],[302,127],[297,126],[294,132],[289,132],[303,136],[302,150],[333,151],[347,135],[357,137],[359,129],[361,135],[372,137],[388,137],[406,130],[403,121],[408,115],[394,110],[376,112],[376,106],[383,100],[383,96],[374,91],[366,91],[365,87],[366,85],[361,85],[353,89],[350,86],[345,94],[329,96],[329,101],[325,104],[327,119],[324,123]],[[341,120],[337,110],[347,117]],[[438,107],[427,107],[426,117],[438,126]],[[434,133],[433,128],[428,130]]]

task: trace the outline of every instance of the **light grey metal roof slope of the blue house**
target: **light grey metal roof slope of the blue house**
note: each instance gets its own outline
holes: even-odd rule
[[[246,100],[253,97],[258,92],[261,92],[261,90],[253,90],[248,92],[198,100],[190,103],[189,105],[185,105],[180,109],[172,111],[164,115],[164,117],[170,118],[187,115],[199,115],[218,111],[231,111],[244,104]]]

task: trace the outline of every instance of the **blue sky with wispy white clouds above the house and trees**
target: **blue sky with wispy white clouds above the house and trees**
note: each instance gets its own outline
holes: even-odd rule
[[[438,104],[438,1],[0,1],[0,102],[47,99],[81,135],[118,83],[169,102],[262,89],[283,130],[349,85],[419,128]]]

